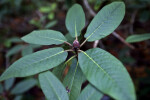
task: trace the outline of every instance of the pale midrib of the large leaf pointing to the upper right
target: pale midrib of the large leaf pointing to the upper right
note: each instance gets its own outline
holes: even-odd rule
[[[114,9],[112,12],[109,13],[109,16],[112,15],[113,12],[116,11],[119,7],[120,7],[120,5],[116,6],[115,9]],[[102,26],[102,24],[104,24],[105,21],[109,19],[109,16],[107,16],[107,18],[105,18],[105,19],[101,22],[101,24],[87,37],[86,40],[88,40],[88,39]]]

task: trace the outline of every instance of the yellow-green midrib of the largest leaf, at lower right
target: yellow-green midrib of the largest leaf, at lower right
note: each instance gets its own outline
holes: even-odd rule
[[[91,58],[86,52],[84,52],[84,51],[81,51],[81,52],[83,52],[83,54],[86,55],[98,68],[100,68],[100,69],[104,72],[104,74],[106,74],[106,75],[109,77],[109,79],[112,80],[113,83],[115,83],[115,85],[116,85],[116,87],[117,87],[117,85],[118,85],[117,82],[116,82],[113,78],[111,78],[110,75],[109,75],[102,67],[100,67],[100,66],[93,60],[93,58]],[[119,87],[119,85],[118,85],[118,87]],[[124,92],[124,91],[122,90],[122,88],[119,87],[119,89],[120,89],[123,93],[126,94],[126,92]],[[127,96],[127,95],[126,95],[126,96]]]

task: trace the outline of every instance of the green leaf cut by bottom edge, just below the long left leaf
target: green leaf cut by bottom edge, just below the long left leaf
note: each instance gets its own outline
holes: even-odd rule
[[[48,100],[69,100],[63,84],[50,71],[39,74],[39,81]]]

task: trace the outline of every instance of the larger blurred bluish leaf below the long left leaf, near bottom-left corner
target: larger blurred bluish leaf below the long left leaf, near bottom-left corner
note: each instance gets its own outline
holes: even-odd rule
[[[11,94],[22,94],[25,93],[26,91],[30,90],[37,84],[37,80],[34,78],[31,79],[26,79],[18,84],[11,90]]]

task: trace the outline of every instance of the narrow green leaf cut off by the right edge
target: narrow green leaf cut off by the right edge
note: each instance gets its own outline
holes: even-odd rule
[[[131,35],[126,39],[126,42],[134,43],[150,39],[150,33]]]

